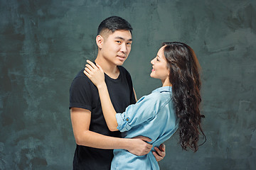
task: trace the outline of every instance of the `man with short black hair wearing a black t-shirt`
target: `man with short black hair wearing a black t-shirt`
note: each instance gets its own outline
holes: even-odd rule
[[[132,79],[121,66],[131,51],[132,27],[123,18],[106,18],[100,23],[96,43],[95,63],[105,72],[114,109],[122,113],[127,106],[136,103]],[[82,71],[70,86],[70,116],[77,143],[73,169],[110,169],[112,149],[127,149],[138,156],[149,153],[152,147],[147,143],[151,141],[149,138],[121,138],[120,132],[107,128],[97,88]],[[155,149],[156,160],[163,159],[164,145]]]

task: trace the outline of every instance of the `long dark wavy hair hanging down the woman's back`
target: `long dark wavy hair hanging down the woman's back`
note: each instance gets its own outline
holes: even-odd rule
[[[204,135],[201,128],[201,80],[199,63],[195,52],[181,42],[164,42],[164,56],[169,67],[169,80],[172,84],[172,98],[179,119],[179,136],[183,149],[198,150],[199,135]]]

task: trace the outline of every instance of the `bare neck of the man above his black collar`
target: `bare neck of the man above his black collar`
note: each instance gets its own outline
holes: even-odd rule
[[[102,67],[105,74],[107,74],[112,79],[117,79],[117,77],[119,77],[119,69],[117,68],[116,64],[108,60],[105,60],[104,57],[101,57],[99,55],[97,55],[95,63],[99,64],[100,67]]]

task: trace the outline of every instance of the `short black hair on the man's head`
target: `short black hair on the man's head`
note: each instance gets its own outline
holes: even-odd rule
[[[131,24],[119,16],[110,16],[109,18],[103,20],[98,27],[97,35],[100,35],[103,30],[111,30],[112,33],[114,33],[116,30],[129,30],[132,34]]]

